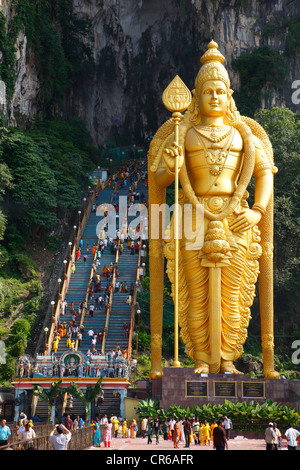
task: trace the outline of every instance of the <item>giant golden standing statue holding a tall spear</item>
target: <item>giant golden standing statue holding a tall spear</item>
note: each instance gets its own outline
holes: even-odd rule
[[[277,169],[263,128],[237,111],[224,60],[211,41],[201,57],[191,99],[189,90],[175,77],[163,96],[173,117],[160,127],[149,149],[152,379],[163,374],[164,257],[180,335],[186,353],[195,360],[195,373],[239,373],[234,362],[243,353],[260,273],[264,374],[279,377],[274,370],[272,260],[273,174]],[[247,187],[252,176],[254,204],[249,208]],[[196,236],[191,240],[185,232],[179,239],[176,209],[169,239],[153,236],[153,204],[165,203],[166,187],[174,180],[181,213],[185,214],[186,205],[192,207],[193,227],[196,224],[196,231],[204,233],[199,246],[191,246]],[[178,180],[181,189],[176,196]],[[199,204],[201,227],[196,222]],[[181,227],[184,222],[182,215]],[[160,226],[164,226],[163,218]],[[174,365],[179,365],[176,357]]]

